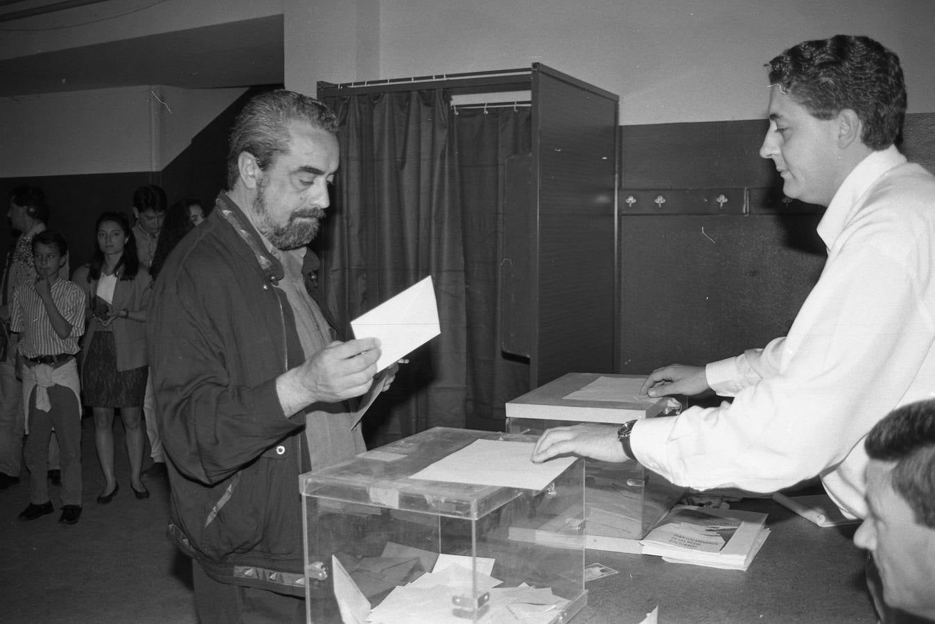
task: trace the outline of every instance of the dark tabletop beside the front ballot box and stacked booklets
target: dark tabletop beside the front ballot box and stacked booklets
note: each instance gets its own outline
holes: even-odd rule
[[[770,537],[746,572],[588,550],[586,563],[618,573],[586,584],[587,605],[572,624],[637,624],[656,605],[666,624],[877,622],[866,552],[851,541],[856,524],[822,529],[770,499],[732,506],[769,514]]]

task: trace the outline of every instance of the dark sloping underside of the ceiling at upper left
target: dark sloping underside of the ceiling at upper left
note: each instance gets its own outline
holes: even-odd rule
[[[0,60],[0,96],[162,84],[281,84],[282,16]]]

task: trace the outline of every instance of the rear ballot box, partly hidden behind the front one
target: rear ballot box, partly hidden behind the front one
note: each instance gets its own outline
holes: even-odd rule
[[[675,399],[639,394],[644,375],[570,372],[506,404],[507,430],[539,435],[548,428],[580,423],[622,425],[678,414]],[[686,488],[674,486],[636,461],[585,464],[585,547],[639,553],[639,540],[653,528]]]

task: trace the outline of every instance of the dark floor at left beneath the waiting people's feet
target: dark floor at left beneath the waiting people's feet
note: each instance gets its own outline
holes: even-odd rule
[[[0,489],[0,622],[80,624],[197,621],[189,559],[165,537],[168,482],[144,477],[149,499],[130,489],[120,418],[114,425],[120,491],[107,505],[95,500],[104,477],[94,451],[94,420],[82,419],[84,509],[76,525],[58,521],[59,487],[50,486],[55,513],[23,522],[29,473]],[[149,446],[144,468],[149,466]]]

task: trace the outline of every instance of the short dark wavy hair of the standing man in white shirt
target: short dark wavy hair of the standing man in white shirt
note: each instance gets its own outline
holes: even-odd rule
[[[779,85],[816,118],[852,109],[861,140],[885,150],[899,138],[906,86],[899,56],[868,36],[837,35],[804,41],[772,59],[770,84]]]

